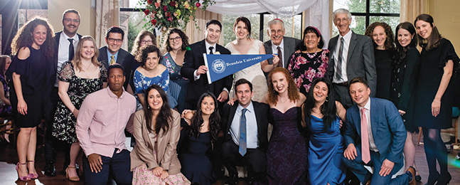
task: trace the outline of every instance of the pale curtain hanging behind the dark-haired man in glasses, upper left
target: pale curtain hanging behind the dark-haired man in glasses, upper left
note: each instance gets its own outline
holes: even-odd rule
[[[112,26],[119,26],[119,0],[97,0],[95,38],[97,46],[106,45],[105,31]]]

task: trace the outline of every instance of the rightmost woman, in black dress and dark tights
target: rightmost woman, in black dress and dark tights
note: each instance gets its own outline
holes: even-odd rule
[[[447,149],[441,139],[441,129],[452,127],[452,94],[449,82],[454,64],[459,62],[454,46],[433,23],[433,17],[420,14],[415,18],[420,54],[417,78],[414,122],[423,129],[424,149],[429,177],[427,184],[448,184]],[[437,171],[439,163],[441,174]]]

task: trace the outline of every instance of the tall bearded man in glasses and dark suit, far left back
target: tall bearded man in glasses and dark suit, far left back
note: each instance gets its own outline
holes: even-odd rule
[[[78,26],[80,26],[80,14],[75,9],[65,10],[63,13],[63,30],[55,33],[55,69],[60,71],[61,65],[65,61],[72,60],[75,55],[77,43],[82,37],[77,33]],[[59,74],[57,74],[59,75]],[[52,135],[53,122],[54,122],[54,113],[56,111],[56,105],[58,104],[59,95],[58,95],[58,78],[56,77],[55,84],[51,90],[50,96],[50,105],[46,105],[46,136],[45,136],[45,175],[46,176],[55,176],[55,147],[57,145],[63,146],[65,151],[65,162],[64,169],[67,168],[70,163],[70,144],[58,142],[55,137]]]

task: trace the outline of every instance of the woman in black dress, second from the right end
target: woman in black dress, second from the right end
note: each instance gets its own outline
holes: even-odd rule
[[[415,166],[415,146],[412,132],[417,131],[412,116],[414,115],[414,87],[419,70],[420,53],[417,46],[417,33],[410,22],[396,26],[396,53],[393,56],[390,98],[404,120],[407,138],[404,145],[405,166]],[[406,167],[407,168],[407,167]],[[418,173],[418,171],[417,171]],[[419,175],[417,181],[421,180]]]

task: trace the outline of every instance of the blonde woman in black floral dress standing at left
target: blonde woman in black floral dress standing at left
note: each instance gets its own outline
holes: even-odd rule
[[[99,50],[91,36],[83,36],[77,44],[75,58],[63,63],[58,72],[60,100],[56,108],[53,123],[53,136],[72,144],[70,164],[65,173],[70,181],[80,181],[75,161],[81,151],[75,133],[78,110],[85,97],[90,93],[107,87],[107,71],[97,61]]]

